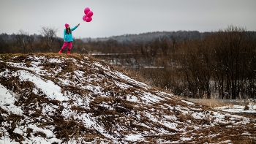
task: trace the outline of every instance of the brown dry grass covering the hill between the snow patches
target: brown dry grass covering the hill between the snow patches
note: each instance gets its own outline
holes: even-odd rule
[[[15,55],[15,59],[10,59],[12,61],[26,61],[26,66],[30,67],[30,60],[28,56],[34,56],[33,53],[30,53],[26,56],[20,56],[19,54]],[[30,81],[20,81],[18,77],[3,77],[1,79],[1,85],[7,87],[8,89],[13,89],[19,96],[19,101],[15,102],[16,106],[20,106],[23,110],[23,114],[26,117],[29,117],[29,123],[38,124],[40,128],[44,129],[46,127],[53,127],[53,132],[56,134],[56,138],[62,140],[62,143],[67,143],[69,140],[80,140],[83,142],[96,142],[100,143],[100,140],[108,140],[107,137],[103,136],[100,132],[97,131],[93,126],[86,127],[79,116],[75,117],[75,115],[86,114],[90,115],[91,120],[95,120],[95,125],[101,126],[105,129],[106,134],[111,134],[113,137],[119,138],[122,140],[127,134],[145,134],[144,141],[138,141],[136,143],[161,143],[161,140],[170,140],[170,141],[178,141],[181,137],[195,137],[192,140],[187,140],[184,143],[218,143],[222,140],[232,140],[234,143],[238,142],[248,142],[249,137],[247,135],[241,135],[242,133],[249,132],[252,134],[255,131],[255,126],[253,123],[244,125],[234,125],[230,123],[225,123],[219,121],[215,123],[216,125],[212,125],[215,121],[213,117],[211,117],[211,113],[209,107],[217,107],[224,105],[223,103],[217,102],[217,99],[202,99],[200,105],[187,105],[187,103],[182,102],[181,99],[173,96],[159,96],[162,98],[159,102],[145,102],[141,96],[143,96],[143,92],[157,95],[159,88],[155,89],[147,89],[142,88],[137,83],[127,82],[126,80],[122,80],[120,77],[115,77],[114,75],[106,75],[105,69],[94,65],[91,66],[93,62],[97,61],[99,64],[103,66],[108,66],[104,64],[102,61],[99,61],[94,58],[86,59],[84,56],[73,54],[72,56],[67,55],[59,55],[56,53],[40,53],[37,56],[45,56],[47,58],[56,57],[56,58],[75,58],[80,65],[83,67],[78,67],[72,61],[64,61],[63,64],[57,64],[54,62],[42,63],[42,69],[48,70],[48,72],[53,73],[55,69],[62,69],[62,73],[56,75],[56,77],[45,76],[45,80],[51,80],[56,85],[62,88],[61,93],[67,94],[71,100],[69,102],[59,102],[55,99],[48,99],[45,94],[38,89],[38,94],[34,94],[32,91],[36,86]],[[3,57],[3,56],[1,56]],[[5,57],[8,57],[5,56]],[[25,60],[24,60],[25,59]],[[4,61],[7,61],[6,58]],[[83,64],[79,62],[79,60],[83,60]],[[86,62],[85,62],[86,61]],[[0,63],[1,66],[6,68],[6,65]],[[97,67],[99,70],[95,70],[93,67]],[[10,68],[13,71],[17,71],[17,68]],[[71,73],[69,75],[73,75],[74,69],[79,69],[83,71],[83,77],[66,77],[65,74]],[[115,67],[110,67],[110,71],[116,69]],[[0,68],[0,72],[4,71],[3,68]],[[30,72],[30,71],[29,71]],[[72,73],[73,72],[73,73]],[[127,73],[125,70],[122,71]],[[128,72],[129,73],[129,72]],[[138,74],[130,73],[129,75],[134,75],[135,79],[139,79],[143,81],[143,77]],[[72,85],[61,85],[58,80],[59,78],[65,80],[69,79]],[[93,79],[91,81],[86,81],[87,79]],[[121,86],[116,84],[125,83],[130,86],[127,89],[122,89]],[[93,90],[82,89],[80,86],[100,86],[102,94],[93,93]],[[127,100],[127,96],[135,96],[138,98],[139,102],[129,102]],[[78,105],[76,98],[80,99],[90,99],[89,105]],[[69,105],[69,107],[64,107],[63,103]],[[55,107],[50,112],[43,113],[42,108],[47,105],[48,107]],[[207,105],[202,106],[202,105]],[[89,107],[88,107],[89,106]],[[178,109],[177,107],[181,107]],[[72,115],[63,115],[63,111],[70,110],[72,111]],[[183,113],[182,111],[189,110],[189,113]],[[2,122],[7,121],[7,124],[10,126],[6,126],[7,132],[10,134],[10,138],[12,140],[18,141],[22,143],[23,136],[20,134],[16,134],[14,131],[15,126],[17,124],[21,126],[26,126],[25,117],[20,117],[20,115],[14,115],[7,112],[0,107],[0,113],[4,113],[3,116],[0,115],[0,124]],[[203,113],[204,118],[197,118],[193,116],[193,113]],[[176,117],[175,119],[166,118],[163,121],[163,116],[170,115]],[[151,118],[154,118],[152,120]],[[254,118],[254,117],[252,117]],[[225,117],[225,121],[230,121],[230,117]],[[184,131],[178,131],[177,129],[172,129],[162,123],[174,123],[178,124],[177,129],[185,129],[186,134],[184,136]],[[253,121],[252,121],[253,122]],[[208,127],[203,127],[206,125]],[[199,129],[195,129],[195,126],[200,127]],[[232,127],[232,128],[230,128]],[[120,130],[121,128],[121,130]],[[238,132],[230,132],[236,131]],[[169,132],[170,134],[158,134],[162,130]],[[158,132],[158,133],[157,133]],[[233,134],[226,136],[227,134]],[[238,135],[240,133],[240,139],[238,140]],[[3,133],[4,134],[4,133]],[[2,133],[0,132],[0,137]],[[44,132],[34,132],[33,129],[26,129],[27,137],[46,137]],[[209,135],[214,135],[214,137],[210,137]],[[83,137],[83,138],[81,138]],[[202,138],[203,137],[203,138]],[[255,137],[255,135],[251,135],[250,137]],[[47,138],[47,137],[46,137]],[[83,139],[83,140],[81,140]],[[255,142],[255,140],[251,141]],[[111,142],[110,142],[111,143]],[[132,143],[132,142],[131,142]]]

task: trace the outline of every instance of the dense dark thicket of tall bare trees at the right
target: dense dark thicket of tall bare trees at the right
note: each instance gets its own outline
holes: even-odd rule
[[[186,88],[192,95],[222,99],[256,98],[256,39],[253,32],[236,26],[210,37],[180,45]]]

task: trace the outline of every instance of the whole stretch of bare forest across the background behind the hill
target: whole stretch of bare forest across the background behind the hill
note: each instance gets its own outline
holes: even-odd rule
[[[0,53],[58,53],[63,39],[56,31],[1,34]],[[256,32],[237,26],[74,39],[71,52],[101,58],[180,96],[256,98]]]

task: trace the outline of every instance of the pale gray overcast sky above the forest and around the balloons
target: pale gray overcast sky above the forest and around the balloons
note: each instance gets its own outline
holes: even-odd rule
[[[73,27],[73,37],[110,37],[153,31],[218,31],[240,26],[256,31],[255,0],[0,0],[0,34],[40,34],[42,26]],[[83,21],[83,10],[94,15]]]

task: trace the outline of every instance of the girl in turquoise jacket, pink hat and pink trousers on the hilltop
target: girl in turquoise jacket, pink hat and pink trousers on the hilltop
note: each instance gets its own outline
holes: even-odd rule
[[[80,23],[78,23],[78,26]],[[62,51],[67,47],[67,54],[70,55],[70,50],[72,48],[72,42],[73,42],[73,36],[72,36],[72,31],[78,28],[78,26],[75,26],[74,28],[70,29],[69,24],[65,24],[66,29],[64,29],[64,44],[62,45],[61,50],[59,50],[59,53],[62,53]]]

